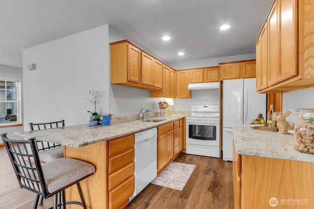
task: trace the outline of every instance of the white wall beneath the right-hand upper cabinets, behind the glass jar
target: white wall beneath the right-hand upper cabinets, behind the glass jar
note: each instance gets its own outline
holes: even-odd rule
[[[314,108],[314,87],[283,93],[283,113],[291,111],[291,115],[286,118],[288,121],[297,122],[300,108]]]

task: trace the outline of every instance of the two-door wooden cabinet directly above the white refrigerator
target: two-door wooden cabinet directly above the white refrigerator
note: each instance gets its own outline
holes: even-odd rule
[[[220,80],[255,78],[255,60],[219,63]]]

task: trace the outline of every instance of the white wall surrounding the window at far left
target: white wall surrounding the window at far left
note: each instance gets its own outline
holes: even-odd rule
[[[0,65],[0,77],[4,78],[18,78],[21,82],[21,87],[23,86],[23,71],[22,68],[15,68],[11,66],[5,66],[5,65]],[[23,98],[23,88],[21,88],[21,97]],[[23,118],[23,99],[21,102],[21,107],[22,107],[22,123],[24,121]],[[23,126],[15,126],[15,127],[9,127],[9,128],[0,128],[0,134],[2,133],[7,133],[8,137],[11,139],[17,139],[16,137],[13,136],[14,132],[20,132],[24,130],[24,125]],[[0,143],[2,143],[2,139],[0,139]]]

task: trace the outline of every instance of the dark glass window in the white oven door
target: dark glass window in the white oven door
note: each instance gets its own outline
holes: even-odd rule
[[[216,140],[216,126],[189,125],[188,137],[190,139]]]

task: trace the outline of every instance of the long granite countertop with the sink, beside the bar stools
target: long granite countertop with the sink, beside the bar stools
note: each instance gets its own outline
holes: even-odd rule
[[[82,147],[88,144],[93,144],[104,140],[143,131],[171,121],[181,119],[186,116],[172,115],[164,117],[154,117],[156,119],[165,120],[160,122],[143,122],[141,120],[136,120],[110,124],[109,126],[88,126],[88,124],[82,124],[37,131],[16,132],[14,133],[14,135],[24,138],[35,137],[39,140],[58,143],[66,146]]]

